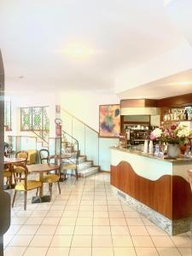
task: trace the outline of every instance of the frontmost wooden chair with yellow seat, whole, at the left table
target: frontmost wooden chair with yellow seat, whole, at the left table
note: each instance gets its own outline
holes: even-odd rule
[[[13,172],[14,172],[14,179],[15,179],[15,194],[12,201],[12,207],[14,207],[17,191],[23,191],[24,192],[24,210],[26,210],[27,191],[32,189],[39,189],[42,186],[42,183],[36,180],[27,180],[28,169],[25,166],[25,164],[22,164],[22,163],[17,164],[13,169]]]

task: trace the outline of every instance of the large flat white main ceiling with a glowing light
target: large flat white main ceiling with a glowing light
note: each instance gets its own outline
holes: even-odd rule
[[[6,90],[113,90],[183,43],[162,0],[1,0]]]

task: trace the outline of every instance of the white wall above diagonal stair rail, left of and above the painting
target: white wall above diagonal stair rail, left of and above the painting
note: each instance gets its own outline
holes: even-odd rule
[[[110,91],[65,91],[60,96],[61,108],[99,131],[99,105],[119,104],[119,97]]]

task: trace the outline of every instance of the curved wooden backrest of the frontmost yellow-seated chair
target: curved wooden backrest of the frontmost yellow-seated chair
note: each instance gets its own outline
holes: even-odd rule
[[[14,172],[15,184],[24,181],[24,187],[26,189],[27,188],[27,176],[29,173],[26,165],[23,163],[15,164],[14,168],[13,168],[13,172]]]

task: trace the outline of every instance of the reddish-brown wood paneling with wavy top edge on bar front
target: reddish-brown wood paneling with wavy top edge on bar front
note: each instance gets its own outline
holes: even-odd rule
[[[111,166],[111,184],[154,211],[160,212],[166,218],[191,216],[189,183],[183,177],[172,178],[170,175],[165,175],[156,181],[151,181],[138,176],[128,162],[121,161],[118,166]],[[181,190],[185,199],[183,201],[179,195]]]

